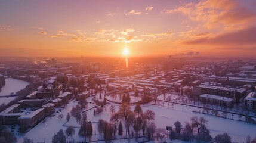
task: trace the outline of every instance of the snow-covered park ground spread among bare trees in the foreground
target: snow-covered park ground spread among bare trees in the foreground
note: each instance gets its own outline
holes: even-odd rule
[[[118,97],[119,98],[119,97]],[[90,102],[92,97],[88,98],[87,101]],[[155,124],[157,128],[166,128],[166,126],[172,126],[174,127],[174,122],[179,120],[183,125],[184,122],[189,122],[190,117],[192,116],[204,116],[209,122],[208,122],[208,128],[211,131],[211,135],[215,137],[218,133],[224,133],[227,132],[232,137],[233,142],[244,142],[247,135],[250,135],[254,137],[256,135],[256,125],[245,123],[245,122],[239,122],[236,120],[231,119],[224,119],[222,117],[216,117],[211,116],[208,114],[202,114],[202,108],[197,107],[189,107],[186,105],[179,105],[174,104],[173,108],[171,104],[162,104],[160,102],[160,105],[153,105],[155,102],[152,101],[150,104],[141,105],[143,108],[143,111],[146,110],[153,110],[156,114],[155,117]],[[51,142],[52,137],[54,136],[54,133],[57,133],[58,130],[63,129],[66,130],[66,126],[72,125],[74,127],[79,127],[80,125],[76,123],[76,120],[74,117],[72,117],[69,122],[66,120],[66,114],[71,111],[72,107],[77,104],[77,101],[72,100],[67,105],[66,108],[64,108],[60,113],[57,113],[55,117],[47,117],[45,125],[41,122],[37,126],[35,126],[33,129],[31,129],[29,132],[27,132],[25,135],[20,135],[17,130],[18,127],[16,126],[16,136],[18,138],[18,142],[23,141],[23,137],[26,136],[27,138],[33,139],[34,142]],[[113,104],[113,103],[110,103]],[[92,110],[87,111],[87,117],[88,120],[92,122],[93,126],[93,136],[92,141],[95,141],[97,139],[103,139],[103,136],[98,135],[97,131],[97,123],[99,119],[103,119],[106,121],[109,121],[110,119],[110,113],[109,113],[109,107],[110,104],[106,105],[103,109],[103,113],[98,114],[94,116]],[[157,103],[158,104],[158,103]],[[115,105],[116,111],[118,111],[119,105]],[[88,104],[88,109],[91,107],[94,107],[95,104]],[[131,106],[131,110],[134,110],[134,105]],[[55,110],[57,111],[57,109]],[[193,111],[201,111],[200,113],[195,113]],[[60,120],[58,118],[59,114],[63,114],[64,118]],[[63,126],[64,125],[64,126]],[[124,125],[124,124],[123,124]],[[124,129],[125,130],[125,129]],[[77,141],[84,141],[84,138],[78,135],[79,128],[75,128],[75,135],[73,138],[75,139],[75,142]],[[120,137],[120,136],[118,136]],[[88,140],[87,140],[88,141]],[[122,142],[128,142],[128,140],[123,140]],[[131,140],[131,142],[134,140]],[[113,142],[119,142],[119,141],[113,141]],[[172,141],[172,142],[181,142],[181,141]]]

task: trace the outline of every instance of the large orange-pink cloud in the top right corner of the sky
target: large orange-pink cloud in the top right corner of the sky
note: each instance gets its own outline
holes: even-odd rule
[[[220,26],[230,27],[238,24],[245,26],[256,18],[255,11],[244,8],[233,0],[190,2],[175,9],[161,11],[161,14],[174,13],[182,13],[190,20],[202,23],[202,26],[208,29],[216,29]]]

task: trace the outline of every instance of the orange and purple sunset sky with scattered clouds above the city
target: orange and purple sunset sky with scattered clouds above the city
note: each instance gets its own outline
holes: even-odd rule
[[[255,57],[255,0],[0,1],[0,56]]]

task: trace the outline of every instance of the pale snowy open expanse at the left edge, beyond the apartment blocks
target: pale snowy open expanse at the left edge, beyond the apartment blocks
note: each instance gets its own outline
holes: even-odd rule
[[[5,79],[5,86],[1,88],[0,96],[4,95],[10,95],[11,92],[14,92],[14,94],[21,89],[24,89],[27,85],[29,85],[28,82],[24,82],[22,80],[18,79],[12,79],[12,78],[7,78]],[[8,104],[12,100],[14,100],[16,97],[4,97],[0,98],[0,104]]]

